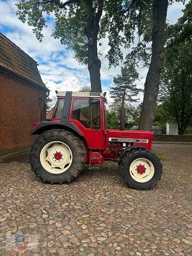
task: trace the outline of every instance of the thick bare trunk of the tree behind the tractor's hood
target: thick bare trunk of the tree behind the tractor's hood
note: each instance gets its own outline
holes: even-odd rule
[[[159,76],[164,63],[164,30],[168,0],[153,0],[152,56],[145,81],[139,130],[151,131],[159,90]]]

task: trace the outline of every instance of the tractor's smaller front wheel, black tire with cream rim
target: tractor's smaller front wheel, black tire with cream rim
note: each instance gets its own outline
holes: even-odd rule
[[[120,165],[124,181],[135,189],[153,188],[162,175],[162,164],[150,150],[139,148],[129,151]]]

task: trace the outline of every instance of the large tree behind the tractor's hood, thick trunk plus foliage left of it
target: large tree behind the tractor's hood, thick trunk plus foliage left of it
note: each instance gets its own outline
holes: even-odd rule
[[[149,65],[139,124],[140,130],[151,130],[154,119],[159,76],[165,58],[164,31],[167,8],[172,2],[172,0],[116,1],[116,4],[114,2],[107,8],[105,18],[101,23],[103,30],[109,33],[110,65],[117,65],[119,60],[123,60],[122,46],[129,48],[126,63],[137,65],[142,61],[144,65]],[[120,3],[123,3],[121,7]],[[112,13],[113,19],[111,20]]]

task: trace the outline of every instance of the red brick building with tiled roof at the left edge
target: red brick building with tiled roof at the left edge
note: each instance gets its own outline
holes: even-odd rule
[[[0,156],[30,147],[33,123],[45,120],[48,91],[36,61],[0,33]]]

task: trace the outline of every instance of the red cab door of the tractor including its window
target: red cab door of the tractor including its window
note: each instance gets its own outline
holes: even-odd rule
[[[72,98],[69,121],[84,134],[90,149],[103,149],[101,99]]]

